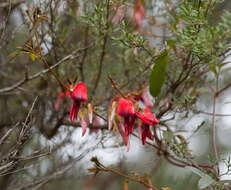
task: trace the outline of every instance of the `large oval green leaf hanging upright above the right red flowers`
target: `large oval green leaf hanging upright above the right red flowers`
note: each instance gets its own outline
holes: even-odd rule
[[[153,97],[159,95],[165,80],[165,71],[168,63],[168,52],[165,50],[155,61],[149,81],[149,90]]]

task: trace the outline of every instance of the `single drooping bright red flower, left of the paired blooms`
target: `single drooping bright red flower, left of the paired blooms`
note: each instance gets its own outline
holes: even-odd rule
[[[78,115],[80,103],[83,103],[87,100],[87,87],[83,82],[79,82],[73,92],[71,93],[71,99],[74,100],[71,111],[70,111],[70,120],[74,121]]]

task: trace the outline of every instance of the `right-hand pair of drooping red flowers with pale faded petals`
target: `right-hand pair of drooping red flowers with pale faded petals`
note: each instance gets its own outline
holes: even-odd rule
[[[114,121],[123,138],[124,144],[127,146],[127,150],[130,148],[129,135],[133,133],[136,119],[141,121],[138,129],[140,139],[144,145],[147,138],[150,140],[154,139],[150,126],[157,125],[159,123],[158,119],[151,113],[148,106],[144,109],[143,113],[136,111],[133,102],[129,99],[119,98],[117,102],[114,101],[112,103],[108,115],[109,129],[112,128]]]

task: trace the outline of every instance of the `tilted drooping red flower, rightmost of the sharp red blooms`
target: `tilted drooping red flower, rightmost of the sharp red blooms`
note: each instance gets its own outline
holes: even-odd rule
[[[145,108],[144,114],[141,114],[139,112],[136,112],[136,116],[142,120],[142,125],[139,125],[139,131],[140,128],[142,130],[141,140],[142,144],[146,144],[146,138],[148,137],[150,140],[154,139],[154,136],[152,135],[152,131],[150,129],[151,125],[157,125],[159,123],[158,119],[150,112],[148,107]]]

